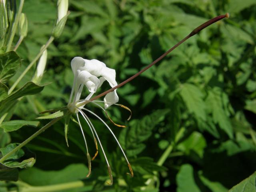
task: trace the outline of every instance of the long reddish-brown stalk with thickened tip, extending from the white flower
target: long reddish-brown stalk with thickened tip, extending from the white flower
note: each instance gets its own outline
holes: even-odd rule
[[[229,14],[226,13],[225,15],[220,15],[217,16],[213,19],[208,20],[207,22],[205,22],[204,24],[198,26],[197,28],[195,28],[188,36],[186,36],[184,39],[182,39],[180,42],[178,42],[176,45],[174,45],[172,48],[170,48],[168,51],[166,51],[164,54],[162,54],[159,58],[157,58],[156,60],[154,60],[151,64],[149,64],[148,66],[146,66],[145,68],[143,68],[140,72],[136,73],[135,75],[131,76],[130,78],[126,79],[125,81],[123,81],[122,83],[118,84],[117,86],[93,97],[90,99],[90,101],[96,100],[106,94],[108,94],[109,92],[114,91],[115,89],[123,86],[124,84],[130,82],[131,80],[133,80],[134,78],[138,77],[140,74],[142,74],[144,71],[148,70],[148,68],[152,67],[154,64],[156,64],[158,61],[162,60],[162,58],[164,58],[167,54],[169,54],[172,50],[174,50],[176,47],[178,47],[180,44],[182,44],[184,41],[186,41],[188,38],[194,36],[195,34],[197,34],[198,32],[200,32],[201,30],[203,30],[204,28],[210,26],[211,24],[217,22],[218,20],[221,20],[223,18],[228,18]]]

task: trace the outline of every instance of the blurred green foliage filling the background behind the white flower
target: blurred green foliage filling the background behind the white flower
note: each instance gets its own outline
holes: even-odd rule
[[[101,151],[86,178],[86,150],[79,127],[70,122],[68,148],[61,120],[26,145],[36,154],[36,163],[20,170],[18,182],[0,182],[0,191],[82,180],[81,186],[62,191],[225,192],[255,172],[255,0],[70,0],[69,10],[62,36],[48,48],[41,82],[47,85],[39,94],[23,97],[8,119],[35,120],[40,111],[65,106],[73,81],[70,61],[75,56],[106,63],[122,82],[206,20],[226,12],[230,18],[206,28],[117,90],[119,103],[132,110],[132,119],[127,122],[128,112],[112,106],[108,111],[113,120],[127,127],[107,122],[128,155],[134,178],[126,174],[128,167],[114,138],[93,117],[114,184],[106,184],[108,172]],[[26,0],[23,12],[28,35],[17,50],[22,66],[8,86],[51,35],[56,1]],[[19,87],[33,74],[30,70]],[[102,87],[99,93],[107,89]],[[87,107],[107,120],[99,108]],[[40,126],[47,122],[42,120]],[[25,126],[6,133],[0,128],[0,136],[6,138],[1,139],[1,147],[24,141],[37,129]],[[89,150],[94,151],[86,123],[84,130]],[[230,191],[256,191],[255,178],[254,173]]]

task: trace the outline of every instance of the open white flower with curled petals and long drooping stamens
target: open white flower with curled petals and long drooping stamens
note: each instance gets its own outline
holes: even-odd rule
[[[96,151],[96,154],[94,155],[94,157],[92,158],[92,160],[98,154],[98,144],[97,144],[97,140],[98,140],[100,147],[102,149],[102,152],[104,154],[104,157],[106,159],[107,165],[108,165],[108,173],[109,173],[110,181],[111,181],[110,183],[112,184],[112,182],[113,182],[111,168],[108,163],[108,159],[106,157],[106,154],[104,152],[102,144],[100,142],[100,138],[99,138],[92,122],[90,121],[90,119],[88,118],[88,116],[86,115],[86,113],[84,111],[89,112],[90,114],[94,115],[96,118],[98,118],[100,121],[102,121],[104,123],[104,125],[108,128],[108,130],[111,132],[111,134],[114,136],[114,139],[118,143],[118,146],[122,150],[122,153],[124,154],[124,158],[126,159],[126,161],[128,163],[128,167],[131,172],[131,175],[133,176],[132,168],[130,166],[130,163],[128,162],[128,159],[124,153],[124,150],[122,149],[120,143],[118,142],[116,136],[114,135],[114,133],[112,132],[110,127],[106,124],[106,122],[104,122],[104,120],[102,120],[102,118],[100,118],[94,112],[84,108],[84,106],[86,104],[91,103],[91,102],[96,104],[100,108],[102,108],[102,106],[100,106],[97,102],[104,102],[104,108],[107,109],[111,105],[116,104],[116,102],[118,102],[119,98],[116,93],[116,90],[106,94],[106,96],[104,97],[104,101],[98,101],[98,100],[90,101],[90,98],[92,97],[92,95],[97,91],[98,88],[100,88],[102,86],[104,81],[107,81],[109,83],[110,87],[112,87],[112,88],[117,85],[116,71],[114,69],[108,68],[106,66],[106,64],[104,64],[103,62],[100,62],[96,59],[87,60],[87,59],[83,59],[82,57],[73,58],[71,61],[71,68],[74,73],[74,82],[73,82],[73,87],[72,87],[72,91],[70,94],[70,99],[68,102],[68,108],[69,108],[70,112],[76,114],[79,126],[81,128],[81,131],[82,131],[82,134],[84,137],[84,142],[85,142],[86,150],[87,150],[88,165],[89,165],[89,173],[87,176],[89,176],[90,172],[91,172],[91,161],[90,161],[90,154],[88,152],[86,138],[85,138],[85,135],[84,135],[81,123],[80,123],[78,113],[80,113],[82,115],[82,117],[88,124],[88,126],[92,132],[92,135],[94,137],[94,142],[95,142],[97,151]],[[88,96],[84,100],[80,100],[84,86],[86,86],[86,88],[88,89],[90,94],[88,94]],[[125,106],[122,106],[122,107],[126,108]],[[104,108],[102,108],[102,110],[104,110],[106,113],[106,110]],[[128,108],[126,108],[126,109],[128,109]],[[128,110],[130,110],[130,109],[128,109]],[[117,125],[117,124],[115,124],[115,125]],[[117,126],[120,126],[120,125],[117,125]],[[94,134],[96,135],[96,137],[94,136]]]

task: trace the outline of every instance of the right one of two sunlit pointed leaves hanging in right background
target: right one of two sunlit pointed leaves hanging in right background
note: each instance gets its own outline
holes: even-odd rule
[[[218,123],[220,128],[233,138],[233,128],[230,119],[228,118],[224,104],[222,103],[222,93],[218,89],[213,89],[208,92],[206,99],[207,106],[212,110],[212,116],[215,123]]]

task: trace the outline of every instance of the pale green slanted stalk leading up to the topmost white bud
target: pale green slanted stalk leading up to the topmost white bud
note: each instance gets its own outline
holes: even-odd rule
[[[32,60],[32,62],[27,66],[27,68],[24,70],[24,72],[22,72],[22,74],[19,76],[19,78],[16,80],[16,82],[14,82],[14,84],[8,91],[8,94],[10,94],[14,90],[14,88],[17,86],[17,84],[20,82],[20,80],[24,77],[24,75],[28,72],[28,70],[30,70],[30,68],[33,66],[33,64],[40,58],[40,56],[48,48],[48,46],[52,43],[53,40],[54,40],[54,37],[50,36],[50,38],[49,38],[48,42],[45,44],[44,48],[42,48],[42,50],[37,54],[37,56],[34,58],[34,60]]]

